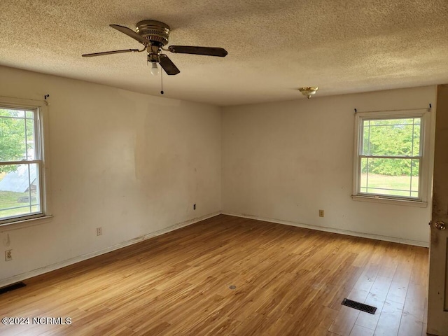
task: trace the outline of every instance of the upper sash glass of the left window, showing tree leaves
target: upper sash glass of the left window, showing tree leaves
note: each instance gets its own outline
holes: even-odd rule
[[[0,109],[0,161],[34,160],[34,113]]]

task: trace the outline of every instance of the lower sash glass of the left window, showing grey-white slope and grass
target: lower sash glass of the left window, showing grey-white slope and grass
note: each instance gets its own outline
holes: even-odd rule
[[[0,219],[41,213],[38,165],[0,165]]]

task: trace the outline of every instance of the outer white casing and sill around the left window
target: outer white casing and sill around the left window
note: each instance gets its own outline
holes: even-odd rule
[[[50,195],[50,176],[49,176],[49,162],[50,162],[50,153],[48,151],[48,137],[45,135],[48,133],[48,104],[44,100],[34,100],[34,99],[21,99],[15,97],[1,97],[0,96],[0,105],[11,108],[25,107],[28,109],[36,109],[36,121],[39,123],[38,130],[40,132],[39,139],[41,143],[39,144],[41,151],[41,171],[39,172],[39,178],[41,179],[41,214],[22,216],[17,218],[8,218],[5,220],[0,220],[0,229],[9,227],[13,224],[21,224],[22,225],[32,225],[38,224],[42,221],[48,221],[48,219],[52,218],[51,213],[51,195]]]

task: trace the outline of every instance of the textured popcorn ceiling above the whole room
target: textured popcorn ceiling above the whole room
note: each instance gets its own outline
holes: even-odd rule
[[[165,97],[219,106],[448,83],[447,0],[1,0],[0,65],[159,95],[146,53],[109,27],[141,20],[172,28],[169,45],[228,50],[169,53]]]

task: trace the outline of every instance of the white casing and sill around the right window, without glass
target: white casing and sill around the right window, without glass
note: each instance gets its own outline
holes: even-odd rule
[[[414,200],[407,197],[388,197],[384,195],[366,195],[360,193],[360,146],[362,139],[360,139],[361,125],[365,118],[416,118],[421,117],[421,132],[422,137],[422,157],[421,157],[421,173],[419,177],[419,199]],[[428,176],[430,169],[430,123],[431,123],[430,109],[412,109],[400,111],[372,111],[372,112],[357,112],[355,113],[355,139],[353,146],[353,193],[351,198],[356,201],[363,202],[378,202],[386,204],[407,205],[412,207],[427,207],[428,206]]]

